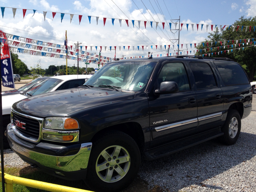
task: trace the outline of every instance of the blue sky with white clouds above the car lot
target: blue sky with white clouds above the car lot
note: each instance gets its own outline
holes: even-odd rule
[[[160,54],[164,56],[167,53],[164,45],[169,44],[171,45],[170,53],[173,53],[178,43],[174,43],[173,50],[172,42],[175,40],[172,39],[178,38],[178,32],[175,35],[172,34],[167,23],[179,17],[181,23],[195,24],[194,31],[191,26],[187,30],[185,25],[180,31],[180,44],[190,44],[200,43],[207,38],[211,31],[210,26],[206,31],[206,24],[232,25],[241,16],[245,18],[256,16],[256,0],[1,0],[0,6],[6,7],[4,18],[0,19],[0,29],[8,34],[63,45],[67,30],[68,46],[74,46],[74,43],[80,42],[83,46],[82,50],[86,51],[85,46],[94,46],[92,51],[88,47],[87,52],[96,54],[99,54],[99,48],[96,50],[95,46],[103,46],[101,55],[111,58],[114,58],[114,46],[117,46],[117,58],[122,55],[124,57],[145,56],[148,52],[153,52],[156,56]],[[11,8],[20,8],[17,9],[15,18]],[[33,16],[33,11],[27,10],[23,19],[22,9],[37,11]],[[43,11],[47,11],[45,21]],[[57,12],[54,19],[52,12]],[[65,13],[62,22],[60,13]],[[70,14],[77,14],[73,16],[71,23]],[[80,24],[78,15],[82,15]],[[88,16],[92,16],[91,23]],[[99,17],[98,25],[96,17],[93,16]],[[105,26],[103,18],[107,18]],[[115,18],[114,26],[111,18]],[[122,26],[120,26],[118,19],[128,19],[129,27],[125,20],[122,20]],[[134,22],[133,27],[130,20],[141,20],[140,29],[137,21]],[[147,21],[146,28],[144,21]],[[150,21],[166,22],[164,30],[161,23],[158,24],[157,29],[156,23],[153,23],[151,28]],[[196,30],[196,24],[205,24],[202,31]],[[174,28],[172,24],[172,29]],[[156,50],[156,46],[151,49],[151,45],[158,45],[158,49]],[[107,46],[106,51],[104,46]],[[112,46],[111,51],[110,46]],[[126,46],[125,50],[123,46]],[[127,46],[130,46],[129,51]],[[134,50],[132,46],[135,46]],[[140,46],[140,50],[137,46]],[[144,50],[141,46],[144,46]],[[186,49],[185,45],[183,49]],[[190,50],[194,50],[193,47],[190,49],[189,46],[188,51]],[[60,58],[18,55],[28,68],[34,67],[38,60],[42,68],[48,68],[53,64],[56,66],[66,64],[66,60]],[[77,62],[68,60],[68,65],[74,64],[77,65]],[[80,62],[79,66],[85,67],[85,64]],[[96,68],[96,64],[91,64],[90,67]]]

